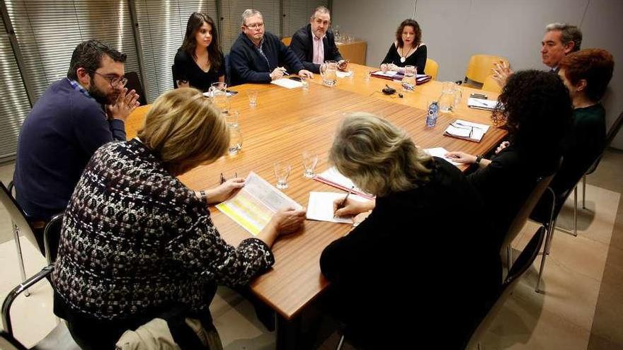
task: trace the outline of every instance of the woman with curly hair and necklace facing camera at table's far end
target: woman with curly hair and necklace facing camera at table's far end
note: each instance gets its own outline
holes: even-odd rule
[[[396,41],[381,62],[383,71],[401,71],[404,66],[416,66],[418,74],[424,74],[426,66],[426,44],[422,42],[420,25],[412,19],[400,23],[396,30]]]

